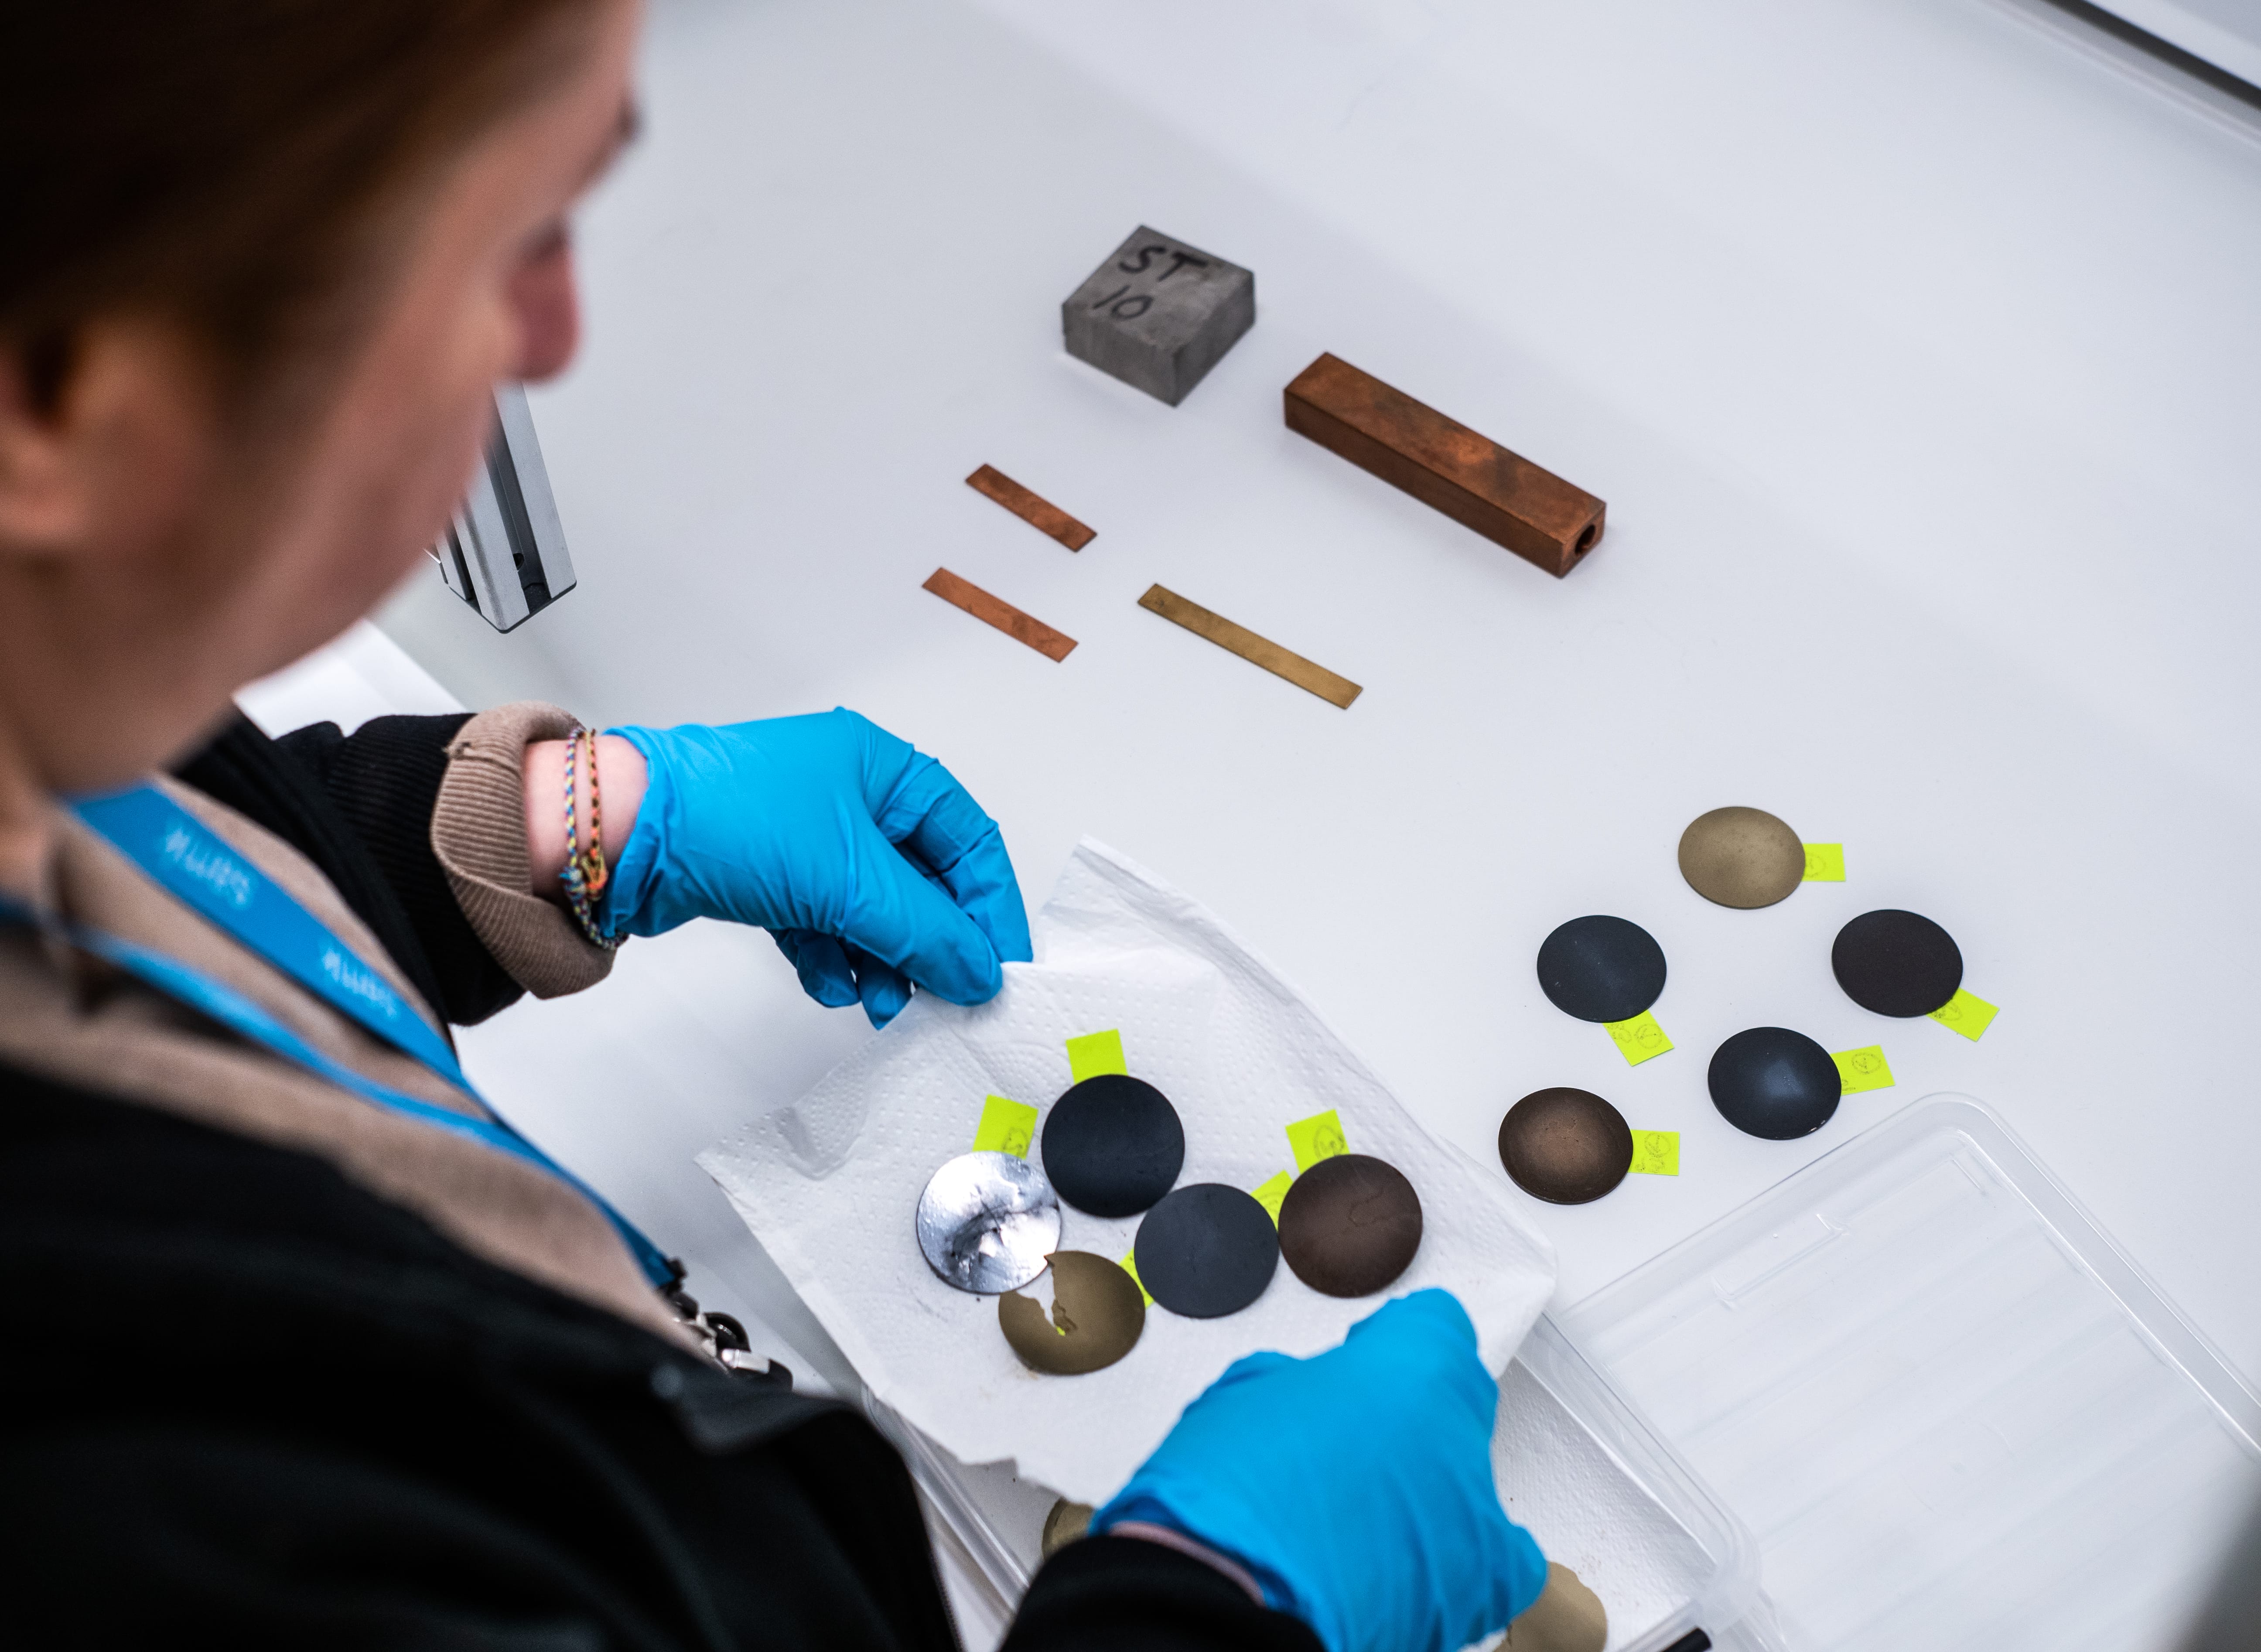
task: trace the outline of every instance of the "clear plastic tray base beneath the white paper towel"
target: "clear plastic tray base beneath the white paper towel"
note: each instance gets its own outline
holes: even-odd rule
[[[1610,1607],[1610,1652],[1664,1652],[1691,1629],[1718,1645],[1779,1647],[1757,1625],[1730,1634],[1757,1596],[1750,1534],[1547,1318],[1501,1390],[1501,1496]],[[959,1462],[868,1390],[864,1408],[1008,1614],[1036,1573],[1054,1494],[1006,1464]]]

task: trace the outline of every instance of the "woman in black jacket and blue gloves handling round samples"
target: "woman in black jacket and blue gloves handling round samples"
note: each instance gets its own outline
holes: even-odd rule
[[[954,1638],[886,1444],[717,1360],[445,1024],[692,915],[873,1021],[981,1001],[1029,956],[995,823],[848,712],[228,721],[414,565],[491,386],[570,359],[568,212],[633,124],[638,23],[0,23],[0,1577],[43,1645]],[[1244,1360],[1011,1645],[1497,1629],[1544,1564],[1495,1401],[1443,1293]]]

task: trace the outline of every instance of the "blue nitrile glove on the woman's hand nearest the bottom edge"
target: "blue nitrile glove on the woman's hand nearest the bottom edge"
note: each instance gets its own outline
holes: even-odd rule
[[[1146,1521],[1207,1544],[1327,1652],[1456,1652],[1547,1586],[1492,1487],[1497,1406],[1467,1313],[1415,1290],[1316,1358],[1235,1363],[1092,1530]]]

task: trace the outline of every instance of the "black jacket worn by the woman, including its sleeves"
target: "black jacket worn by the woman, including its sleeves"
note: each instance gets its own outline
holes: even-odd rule
[[[459,723],[237,723],[181,773],[470,1021],[518,990],[427,843]],[[488,1266],[321,1159],[0,1067],[0,1311],[9,1645],[954,1645],[859,1415]],[[1194,1559],[1090,1539],[1008,1647],[1318,1641]]]

